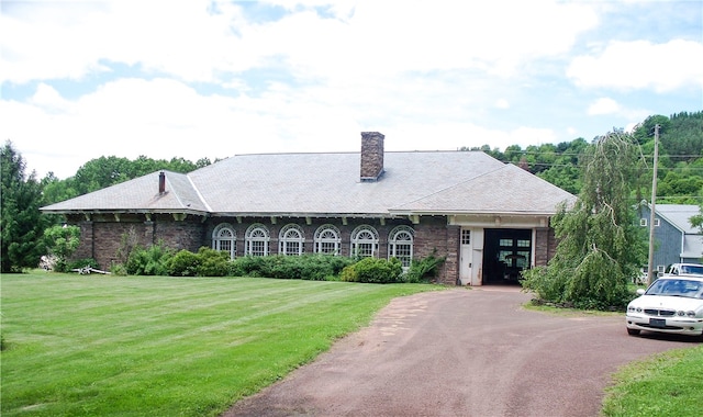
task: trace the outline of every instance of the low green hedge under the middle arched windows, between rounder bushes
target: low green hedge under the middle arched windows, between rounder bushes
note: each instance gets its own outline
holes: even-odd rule
[[[288,280],[325,281],[335,279],[354,263],[352,258],[332,255],[302,255],[237,258],[231,264],[233,277],[265,277]]]

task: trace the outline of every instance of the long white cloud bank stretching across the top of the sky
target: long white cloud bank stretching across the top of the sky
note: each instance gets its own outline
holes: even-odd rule
[[[223,71],[270,59],[290,64],[303,77],[455,68],[507,76],[525,60],[568,50],[598,22],[590,8],[554,1],[511,2],[510,13],[503,2],[437,1],[431,9],[420,1],[400,9],[386,1],[330,4],[345,19],[308,10],[255,24],[236,3],[212,8],[204,0],[42,3],[0,18],[5,60],[0,80],[80,79],[108,70],[112,61],[214,81]]]

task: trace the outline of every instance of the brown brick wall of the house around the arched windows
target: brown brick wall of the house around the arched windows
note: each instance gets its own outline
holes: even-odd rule
[[[270,235],[268,253],[279,252],[279,233],[290,224],[295,224],[304,234],[304,252],[314,251],[314,235],[320,226],[331,224],[341,233],[341,255],[352,255],[352,233],[358,226],[367,225],[378,232],[378,257],[389,256],[389,235],[397,226],[412,227],[414,230],[413,258],[422,259],[436,250],[437,257],[446,260],[439,270],[438,281],[456,284],[459,279],[459,257],[461,227],[448,225],[445,216],[420,217],[417,224],[402,218],[299,218],[299,217],[200,217],[172,215],[132,214],[120,216],[93,216],[90,221],[80,217],[69,218],[80,225],[81,239],[76,258],[93,258],[103,269],[124,262],[120,251],[124,245],[148,247],[159,241],[177,250],[197,251],[200,247],[212,246],[213,230],[221,224],[228,224],[235,232],[235,256],[242,257],[246,250],[246,230],[253,224],[264,225]],[[536,230],[534,243],[535,263],[544,266],[554,256],[556,239],[551,228]]]

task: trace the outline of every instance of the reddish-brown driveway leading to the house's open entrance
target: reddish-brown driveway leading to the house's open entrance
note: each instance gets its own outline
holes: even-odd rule
[[[617,367],[693,347],[624,318],[523,309],[516,288],[397,298],[315,362],[225,416],[598,416]]]

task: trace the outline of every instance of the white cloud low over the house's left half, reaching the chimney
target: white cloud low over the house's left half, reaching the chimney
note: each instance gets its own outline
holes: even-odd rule
[[[0,101],[1,131],[40,177],[54,171],[66,178],[82,164],[112,155],[196,161],[248,153],[357,150],[362,128],[347,109],[290,97],[289,91],[265,98],[201,95],[170,79],[121,79],[69,101],[40,84],[25,103]]]

